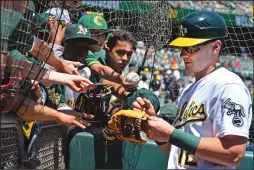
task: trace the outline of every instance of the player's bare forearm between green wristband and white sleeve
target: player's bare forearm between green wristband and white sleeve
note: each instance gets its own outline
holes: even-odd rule
[[[234,144],[233,144],[234,143]],[[246,143],[222,138],[201,138],[195,156],[221,165],[237,166],[244,156]]]

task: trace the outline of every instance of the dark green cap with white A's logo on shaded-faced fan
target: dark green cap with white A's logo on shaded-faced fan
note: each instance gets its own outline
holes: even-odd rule
[[[97,44],[97,40],[92,39],[91,32],[83,27],[81,24],[69,24],[66,26],[65,31],[65,40],[70,39],[86,39],[88,43],[91,44]]]

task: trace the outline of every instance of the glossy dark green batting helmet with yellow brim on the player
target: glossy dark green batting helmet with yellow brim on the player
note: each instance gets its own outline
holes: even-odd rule
[[[227,28],[223,18],[211,11],[197,11],[190,13],[181,20],[180,36],[169,45],[189,47],[213,39],[227,37]]]

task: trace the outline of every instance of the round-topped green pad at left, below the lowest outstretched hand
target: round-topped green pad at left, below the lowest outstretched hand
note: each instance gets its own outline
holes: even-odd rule
[[[93,135],[81,132],[70,143],[70,169],[94,169]]]

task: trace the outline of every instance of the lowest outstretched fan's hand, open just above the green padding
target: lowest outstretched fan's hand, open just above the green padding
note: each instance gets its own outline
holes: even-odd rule
[[[93,119],[94,116],[86,113],[75,112],[74,110],[61,110],[61,114],[57,115],[56,121],[59,124],[64,124],[68,126],[78,126],[79,128],[85,129],[90,126],[84,119]]]

